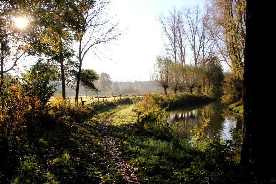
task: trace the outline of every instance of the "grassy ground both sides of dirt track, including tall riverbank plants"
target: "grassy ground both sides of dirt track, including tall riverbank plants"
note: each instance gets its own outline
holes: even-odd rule
[[[133,166],[140,183],[273,183],[239,167],[239,136],[210,142],[195,128],[192,146],[173,135],[160,95],[134,102],[105,102],[70,113],[64,107],[45,117],[10,147],[1,163],[0,183],[125,183],[105,147],[104,119],[118,153]]]

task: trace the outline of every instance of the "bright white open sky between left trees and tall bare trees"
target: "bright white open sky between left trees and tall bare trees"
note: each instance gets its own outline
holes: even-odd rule
[[[149,81],[154,60],[164,50],[156,15],[167,14],[173,6],[203,7],[203,3],[203,0],[114,0],[109,4],[109,16],[113,21],[119,20],[122,30],[127,29],[118,41],[106,48],[99,47],[106,57],[95,57],[92,52],[86,55],[83,68],[108,73],[112,81]]]

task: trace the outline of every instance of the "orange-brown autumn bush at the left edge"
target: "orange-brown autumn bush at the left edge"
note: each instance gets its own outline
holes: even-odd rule
[[[1,87],[0,146],[7,149],[9,143],[18,143],[23,129],[36,129],[39,116],[47,111],[45,96],[37,93],[36,84],[28,88],[18,79],[6,76]],[[51,93],[50,91],[48,91]],[[3,145],[5,145],[3,147]]]

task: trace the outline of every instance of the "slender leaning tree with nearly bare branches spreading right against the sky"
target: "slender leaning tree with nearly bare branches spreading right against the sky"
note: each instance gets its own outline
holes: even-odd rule
[[[83,2],[83,1],[82,1]],[[78,58],[78,74],[76,84],[76,102],[78,101],[79,84],[81,78],[81,67],[83,58],[89,50],[99,51],[97,45],[110,43],[121,35],[121,31],[117,29],[118,22],[110,23],[110,19],[106,14],[106,7],[110,3],[108,0],[84,1],[81,4],[81,14],[75,20],[75,39],[77,41],[76,57]],[[100,51],[99,51],[100,52]]]

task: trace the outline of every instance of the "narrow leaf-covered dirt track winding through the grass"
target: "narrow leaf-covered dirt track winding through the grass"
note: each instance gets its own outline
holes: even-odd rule
[[[109,135],[108,126],[110,122],[107,119],[112,116],[106,116],[102,122],[102,132],[104,135],[104,143],[106,151],[110,155],[110,159],[115,162],[116,168],[121,173],[126,183],[139,183],[137,176],[134,173],[134,168],[132,165],[128,164],[126,160],[122,158],[122,152],[117,148],[115,140]]]

